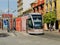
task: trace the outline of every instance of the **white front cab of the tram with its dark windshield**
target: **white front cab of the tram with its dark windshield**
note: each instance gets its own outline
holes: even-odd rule
[[[29,34],[44,34],[43,17],[40,13],[30,13],[27,19],[27,30]]]

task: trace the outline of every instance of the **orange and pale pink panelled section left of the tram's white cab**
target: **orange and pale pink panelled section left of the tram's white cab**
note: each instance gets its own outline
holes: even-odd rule
[[[26,20],[28,16],[22,16],[16,18],[16,31],[26,31]]]

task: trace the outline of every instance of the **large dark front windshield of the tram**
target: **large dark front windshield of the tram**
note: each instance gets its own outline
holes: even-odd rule
[[[34,21],[34,28],[41,29],[42,28],[42,16],[41,15],[32,15]]]

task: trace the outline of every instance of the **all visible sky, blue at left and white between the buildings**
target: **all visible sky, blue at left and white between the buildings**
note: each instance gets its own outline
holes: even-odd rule
[[[23,0],[23,10],[27,10],[29,9],[30,3],[33,2],[34,0]],[[8,0],[0,0],[0,10],[2,10],[3,12],[7,13],[8,12]],[[9,10],[10,13],[12,13],[12,11],[16,10],[13,15],[17,16],[17,0],[9,0]],[[0,11],[1,13],[1,11]]]

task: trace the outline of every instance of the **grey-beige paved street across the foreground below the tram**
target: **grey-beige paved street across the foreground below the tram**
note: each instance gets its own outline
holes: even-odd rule
[[[7,33],[0,31],[1,33]],[[46,31],[45,35],[29,35],[25,32],[7,33],[9,36],[0,37],[0,45],[60,45],[60,35]]]

